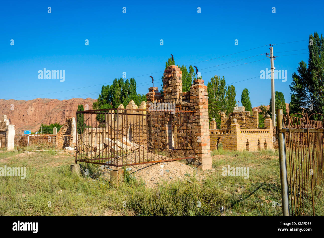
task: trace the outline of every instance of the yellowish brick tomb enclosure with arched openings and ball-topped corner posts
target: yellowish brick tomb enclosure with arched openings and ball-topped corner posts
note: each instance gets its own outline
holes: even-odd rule
[[[210,122],[211,149],[217,149],[221,142],[225,150],[257,151],[273,150],[273,130],[270,116],[264,120],[265,128],[258,128],[259,113],[250,115],[245,107],[236,107],[229,117],[221,113],[221,129],[216,129],[216,122]]]

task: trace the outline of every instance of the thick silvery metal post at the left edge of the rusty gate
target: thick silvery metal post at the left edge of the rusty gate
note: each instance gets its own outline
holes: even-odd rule
[[[283,205],[283,215],[289,216],[289,194],[287,181],[287,167],[286,167],[286,148],[284,143],[284,133],[280,132],[283,128],[283,110],[277,109],[277,135],[279,147],[279,166],[280,166],[280,183],[281,183],[281,199]]]

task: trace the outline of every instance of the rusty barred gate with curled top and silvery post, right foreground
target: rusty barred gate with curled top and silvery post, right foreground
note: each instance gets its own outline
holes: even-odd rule
[[[323,122],[311,115],[277,110],[284,215],[315,215],[324,181]],[[288,156],[286,156],[288,155]]]

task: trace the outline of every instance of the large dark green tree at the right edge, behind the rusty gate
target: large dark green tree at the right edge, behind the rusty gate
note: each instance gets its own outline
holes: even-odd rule
[[[289,86],[291,91],[292,106],[289,108],[291,114],[300,112],[300,108],[305,108],[305,112],[319,112],[324,114],[324,38],[319,37],[317,32],[314,36],[309,35],[308,43],[308,67],[306,62],[299,62],[297,73],[292,75],[292,83]],[[312,104],[313,110],[309,107]],[[312,119],[321,120],[318,114]]]

